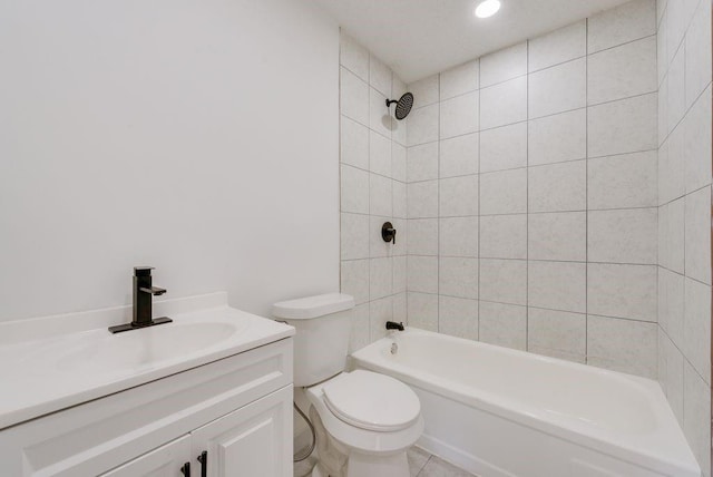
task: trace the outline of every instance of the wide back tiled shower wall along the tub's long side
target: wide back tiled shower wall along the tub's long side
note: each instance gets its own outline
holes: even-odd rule
[[[409,323],[656,378],[655,1],[409,88]]]

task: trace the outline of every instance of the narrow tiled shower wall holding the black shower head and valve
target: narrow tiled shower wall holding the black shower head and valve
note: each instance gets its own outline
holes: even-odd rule
[[[352,350],[383,335],[385,321],[407,319],[406,121],[385,106],[404,91],[383,62],[342,33],[341,289],[356,301]],[[384,222],[397,230],[395,244],[381,238]]]

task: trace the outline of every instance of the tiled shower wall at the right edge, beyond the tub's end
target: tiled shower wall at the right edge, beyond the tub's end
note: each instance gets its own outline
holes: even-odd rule
[[[658,25],[658,379],[709,476],[711,2],[667,0]]]

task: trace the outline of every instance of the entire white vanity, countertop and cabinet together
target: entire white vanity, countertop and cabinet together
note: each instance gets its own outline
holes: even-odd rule
[[[225,293],[0,324],[3,476],[292,475],[294,329]]]

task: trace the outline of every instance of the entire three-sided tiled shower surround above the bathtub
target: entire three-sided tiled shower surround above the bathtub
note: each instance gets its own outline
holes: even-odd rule
[[[658,377],[710,475],[710,27],[706,0],[635,0],[410,85],[401,123],[403,84],[342,36],[352,349],[408,301],[417,327]]]

